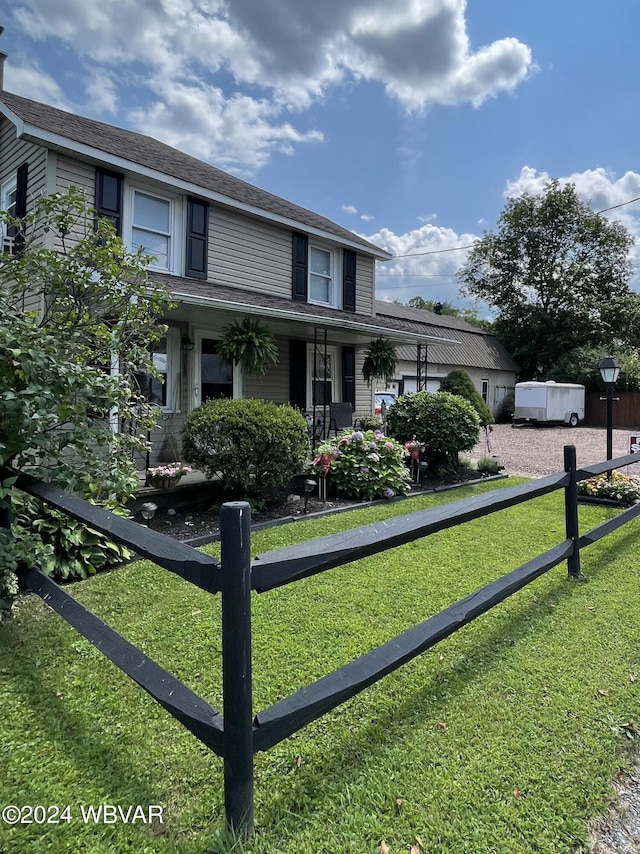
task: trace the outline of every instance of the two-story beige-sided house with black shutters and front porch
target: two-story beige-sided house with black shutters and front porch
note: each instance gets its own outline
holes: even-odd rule
[[[128,249],[155,256],[150,281],[177,301],[154,352],[164,378],[149,389],[161,413],[154,458],[179,456],[185,415],[212,397],[288,402],[323,417],[343,402],[366,416],[370,342],[432,340],[376,316],[375,262],[390,256],[357,234],[151,137],[0,91],[2,209],[24,214],[37,196],[70,186]],[[247,317],[276,337],[279,361],[264,377],[218,354],[223,328]]]

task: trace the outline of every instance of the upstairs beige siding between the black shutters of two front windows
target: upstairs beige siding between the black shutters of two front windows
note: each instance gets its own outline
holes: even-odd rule
[[[291,232],[212,205],[208,279],[291,297]]]

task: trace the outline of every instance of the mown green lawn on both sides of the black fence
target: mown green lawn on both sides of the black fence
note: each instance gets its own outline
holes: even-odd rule
[[[517,482],[517,481],[516,481]],[[514,479],[256,533],[258,554]],[[613,511],[581,507],[581,529]],[[570,852],[640,719],[638,523],[266,754],[256,836],[224,841],[222,761],[36,597],[0,627],[0,800],[71,806],[0,824],[6,854]],[[564,539],[562,493],[254,598],[254,708],[392,638]],[[148,562],[74,585],[217,708],[220,600]],[[84,824],[80,805],[160,805],[163,824]]]

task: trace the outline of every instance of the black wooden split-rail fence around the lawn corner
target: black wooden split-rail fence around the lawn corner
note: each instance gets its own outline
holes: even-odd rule
[[[253,754],[268,750],[301,727],[339,706],[421,652],[507,599],[554,566],[567,561],[569,577],[580,577],[580,550],[640,515],[640,503],[586,534],[578,529],[577,482],[638,462],[630,454],[577,470],[573,446],[564,449],[564,471],[530,483],[419,510],[251,560],[251,511],[229,502],[220,514],[221,558],[114,516],[25,474],[16,488],[40,498],[127,545],[161,567],[209,593],[222,593],[222,685],[224,720],[217,709],[77,602],[39,570],[22,581],[145,689],[200,741],[224,760],[225,816],[242,835],[253,830]],[[2,478],[15,475],[7,469]],[[383,643],[291,696],[254,715],[251,688],[251,591],[264,593],[284,584],[410,543],[507,507],[564,489],[565,539],[533,560],[476,590],[438,614]],[[0,523],[7,524],[6,514]]]

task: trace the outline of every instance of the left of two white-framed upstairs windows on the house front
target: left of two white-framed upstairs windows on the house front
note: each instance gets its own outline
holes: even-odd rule
[[[174,235],[176,234],[175,202],[145,190],[131,191],[131,248],[139,249],[154,260],[149,265],[158,270],[173,270]]]

